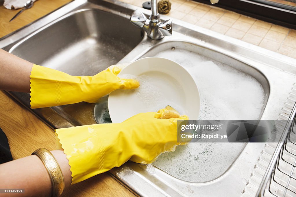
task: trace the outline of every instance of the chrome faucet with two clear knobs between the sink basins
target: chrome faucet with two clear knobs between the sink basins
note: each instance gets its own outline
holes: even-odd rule
[[[130,21],[137,27],[143,28],[149,38],[153,40],[159,40],[165,36],[172,35],[172,19],[161,22],[160,16],[157,12],[157,0],[151,0],[151,11],[149,19],[141,12],[136,9],[131,15]]]

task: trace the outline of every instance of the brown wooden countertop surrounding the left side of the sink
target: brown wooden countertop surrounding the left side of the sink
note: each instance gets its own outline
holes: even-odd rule
[[[0,5],[0,38],[52,12],[71,0],[39,0],[12,22],[19,10]],[[1,1],[0,1],[1,3]],[[0,57],[1,59],[1,57]],[[12,157],[18,159],[44,147],[56,149],[54,131],[20,103],[0,91],[0,127],[6,133]],[[135,196],[109,174],[96,175],[68,187],[62,196]]]

